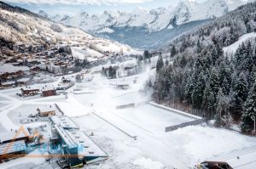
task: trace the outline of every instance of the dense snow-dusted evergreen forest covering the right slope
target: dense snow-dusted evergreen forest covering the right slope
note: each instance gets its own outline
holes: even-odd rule
[[[253,130],[256,116],[256,39],[243,42],[235,54],[223,48],[241,35],[256,31],[256,3],[202,25],[175,39],[170,60],[157,62],[154,98],[192,107],[216,125],[241,123],[242,132]],[[173,99],[173,100],[172,100]]]

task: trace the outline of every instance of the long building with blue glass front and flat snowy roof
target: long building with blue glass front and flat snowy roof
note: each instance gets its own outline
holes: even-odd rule
[[[108,158],[108,155],[84,132],[68,131],[60,125],[55,125],[53,132],[70,167],[84,166]]]

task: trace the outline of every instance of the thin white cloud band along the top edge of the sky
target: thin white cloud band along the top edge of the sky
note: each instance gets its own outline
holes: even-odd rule
[[[85,5],[111,5],[121,3],[145,3],[151,0],[5,0],[7,3],[34,3],[34,4],[85,4]]]

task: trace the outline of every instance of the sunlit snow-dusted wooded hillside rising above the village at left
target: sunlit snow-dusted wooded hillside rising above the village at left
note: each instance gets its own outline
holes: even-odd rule
[[[0,2],[0,40],[4,42],[26,44],[84,44],[95,53],[111,51],[113,53],[131,53],[133,50],[119,42],[92,37],[74,27],[53,23],[22,8],[15,8]],[[47,14],[40,11],[44,17]],[[107,48],[109,47],[109,48]]]

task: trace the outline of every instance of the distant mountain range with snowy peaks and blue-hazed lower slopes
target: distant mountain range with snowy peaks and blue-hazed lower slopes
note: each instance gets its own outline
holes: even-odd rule
[[[96,36],[127,43],[131,47],[158,48],[166,40],[251,1],[255,0],[207,0],[203,3],[181,0],[176,7],[139,7],[130,13],[104,11],[103,14],[93,15],[86,12],[74,16],[57,14],[51,20],[78,27]]]

